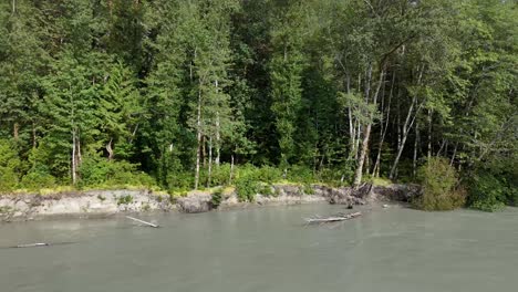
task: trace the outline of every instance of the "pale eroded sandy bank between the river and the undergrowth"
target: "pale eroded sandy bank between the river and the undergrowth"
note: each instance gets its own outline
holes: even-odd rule
[[[321,185],[272,185],[271,195],[257,194],[252,202],[240,201],[231,188],[221,191],[215,206],[209,191],[190,191],[185,197],[169,197],[151,190],[90,190],[52,195],[0,195],[0,221],[39,220],[72,216],[93,218],[124,212],[182,211],[206,212],[213,209],[246,208],[266,205],[343,204],[367,205],[373,201],[410,201],[418,188],[407,185],[372,186],[358,189]]]

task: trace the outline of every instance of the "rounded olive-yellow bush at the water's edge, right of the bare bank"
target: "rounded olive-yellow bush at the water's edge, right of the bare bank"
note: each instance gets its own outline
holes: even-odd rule
[[[444,158],[429,158],[417,171],[423,196],[414,204],[423,210],[453,210],[466,202],[466,191],[458,186],[454,167]]]

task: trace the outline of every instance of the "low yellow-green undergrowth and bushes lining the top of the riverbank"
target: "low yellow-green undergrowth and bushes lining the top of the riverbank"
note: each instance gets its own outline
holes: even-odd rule
[[[518,188],[510,179],[495,177],[489,173],[475,173],[472,177],[460,181],[460,175],[448,161],[432,158],[418,169],[417,182],[423,186],[423,197],[414,201],[415,207],[424,210],[450,210],[459,207],[470,207],[485,211],[496,211],[506,205],[518,204]],[[135,165],[127,163],[102,163],[85,165],[81,178],[75,186],[65,184],[70,178],[59,180],[46,173],[39,175],[29,171],[23,177],[17,177],[12,171],[0,174],[0,194],[35,194],[41,196],[87,190],[111,189],[147,189],[159,198],[174,201],[178,197],[193,191],[194,174],[182,171],[170,174],[165,182],[157,181],[147,174],[138,171]],[[7,176],[7,177],[6,177]],[[350,186],[353,171],[349,168],[323,169],[313,171],[303,166],[292,166],[287,170],[252,165],[234,166],[222,164],[215,166],[213,174],[200,173],[200,188],[198,191],[208,194],[230,194],[236,190],[241,201],[252,201],[256,194],[277,196],[276,184],[293,185],[301,188],[303,194],[312,194],[311,185],[329,187]],[[6,180],[9,179],[9,180]],[[392,184],[386,178],[370,177],[364,181],[376,186]],[[515,185],[514,185],[515,184]],[[464,187],[464,186],[467,187]]]

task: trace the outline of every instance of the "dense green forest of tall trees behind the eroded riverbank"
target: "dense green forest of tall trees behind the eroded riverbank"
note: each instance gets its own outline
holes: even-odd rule
[[[435,159],[469,205],[517,202],[517,8],[2,1],[0,190],[411,182]]]

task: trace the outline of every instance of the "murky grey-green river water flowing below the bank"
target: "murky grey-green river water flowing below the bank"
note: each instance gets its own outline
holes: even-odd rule
[[[198,215],[0,225],[2,292],[517,291],[518,209],[262,207]],[[74,242],[10,249],[30,242]]]

